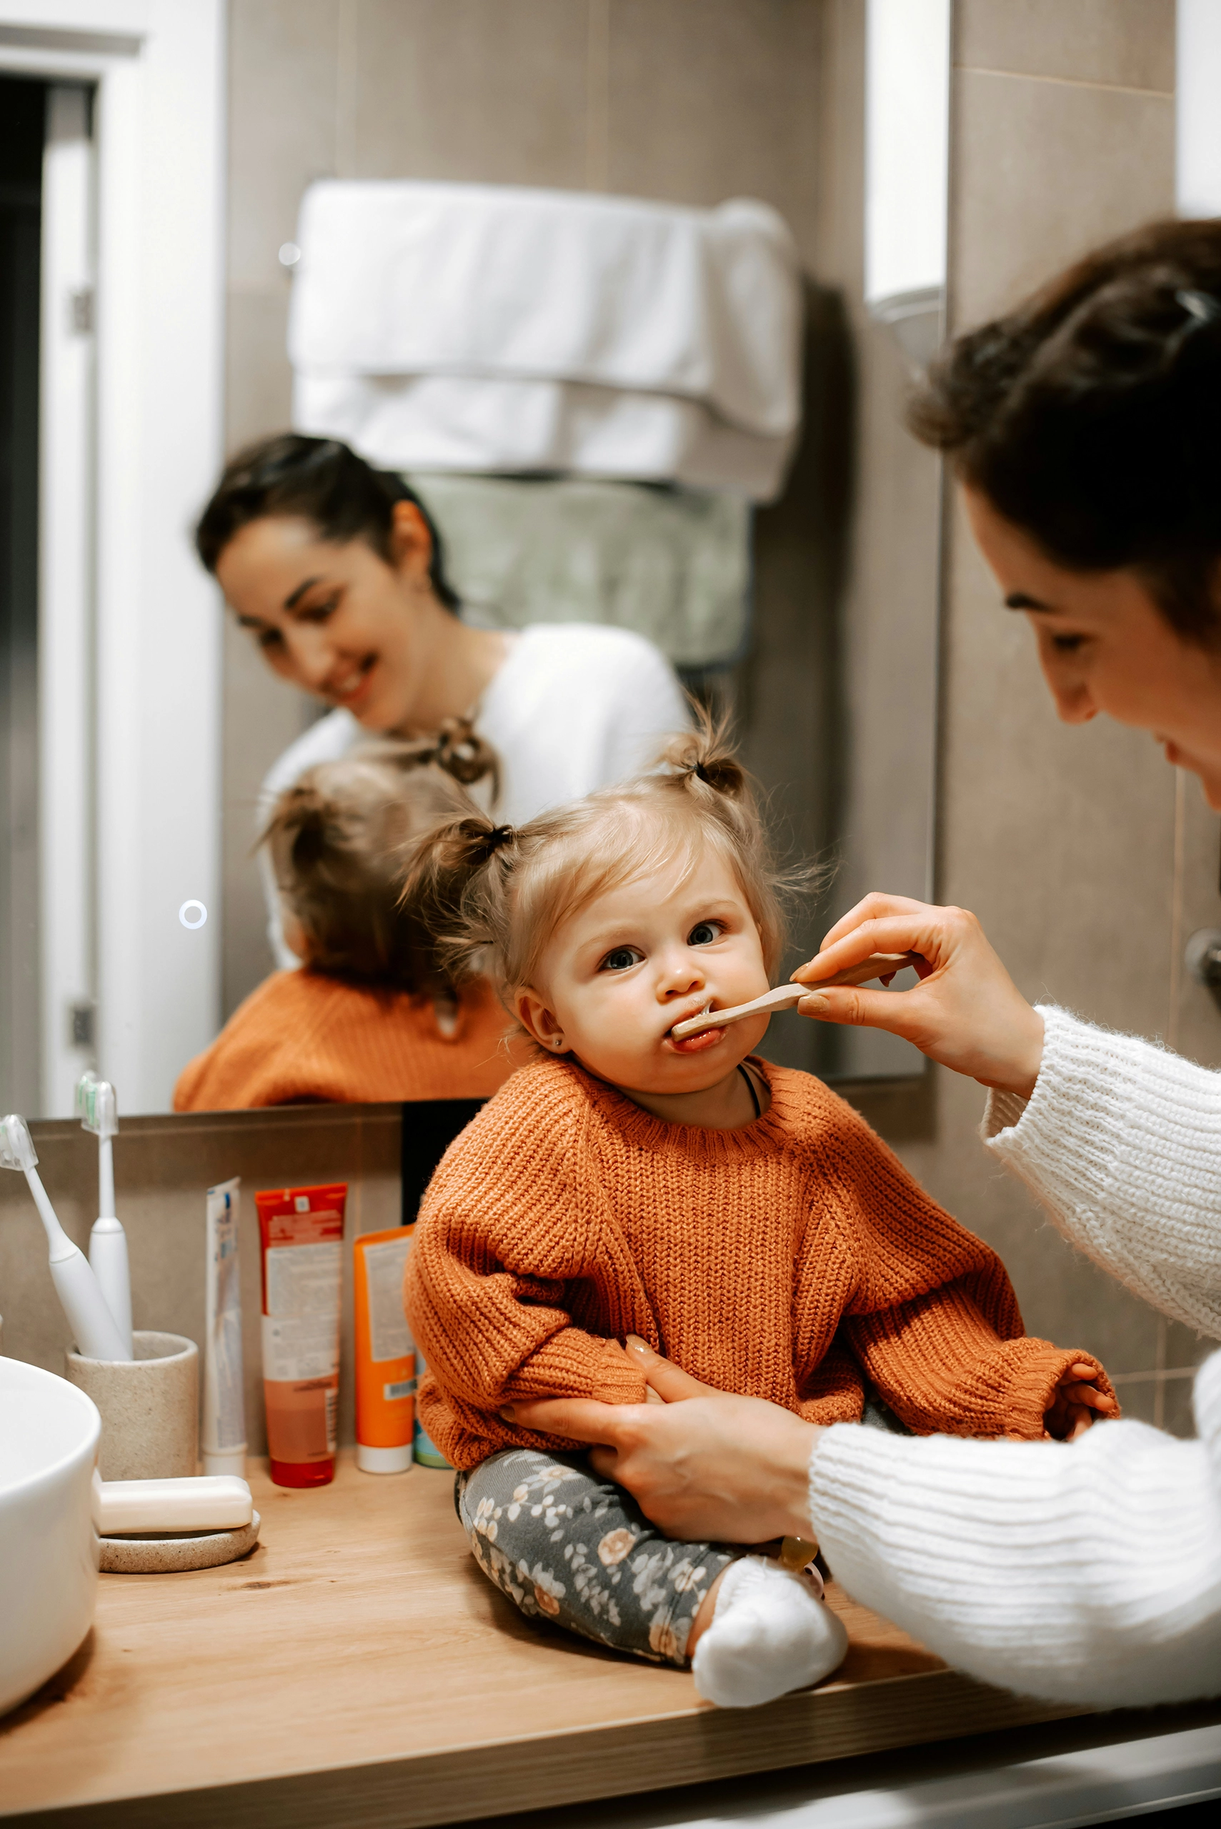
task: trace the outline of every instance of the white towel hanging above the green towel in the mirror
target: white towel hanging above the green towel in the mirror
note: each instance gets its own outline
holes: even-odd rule
[[[327,179],[298,241],[298,432],[389,468],[779,492],[802,298],[764,203]]]

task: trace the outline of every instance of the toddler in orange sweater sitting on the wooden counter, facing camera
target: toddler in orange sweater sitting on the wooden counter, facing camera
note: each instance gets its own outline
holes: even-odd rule
[[[996,1255],[852,1107],[751,1055],[766,1015],[674,1041],[768,988],[775,883],[742,770],[704,733],[517,830],[441,830],[406,891],[457,964],[492,962],[550,1057],[484,1107],[420,1207],[422,1425],[523,1613],[691,1664],[722,1706],[839,1664],[817,1573],[667,1540],[581,1454],[515,1427],[515,1401],[643,1403],[636,1335],[813,1423],[859,1421],[868,1385],[919,1434],[1069,1436],[1115,1410],[1095,1359],[1024,1335]]]

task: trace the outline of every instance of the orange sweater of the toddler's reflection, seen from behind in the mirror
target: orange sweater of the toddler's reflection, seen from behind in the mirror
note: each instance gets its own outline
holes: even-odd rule
[[[508,1017],[494,989],[462,989],[453,1035],[431,1002],[320,971],[272,971],[174,1088],[175,1112],[247,1105],[486,1099],[512,1074]]]

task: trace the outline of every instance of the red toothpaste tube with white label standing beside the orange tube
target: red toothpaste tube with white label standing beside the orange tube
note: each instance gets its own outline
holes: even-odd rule
[[[334,1480],[347,1183],[254,1196],[263,1258],[263,1396],[276,1485]]]

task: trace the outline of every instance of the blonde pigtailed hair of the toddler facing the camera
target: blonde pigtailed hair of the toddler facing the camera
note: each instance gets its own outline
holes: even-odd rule
[[[556,931],[596,896],[674,861],[691,871],[706,847],[737,876],[773,973],[786,891],[812,872],[777,871],[753,785],[707,717],[667,743],[651,772],[528,825],[475,814],[439,827],[417,850],[402,905],[455,980],[486,971],[510,999],[536,982]]]

